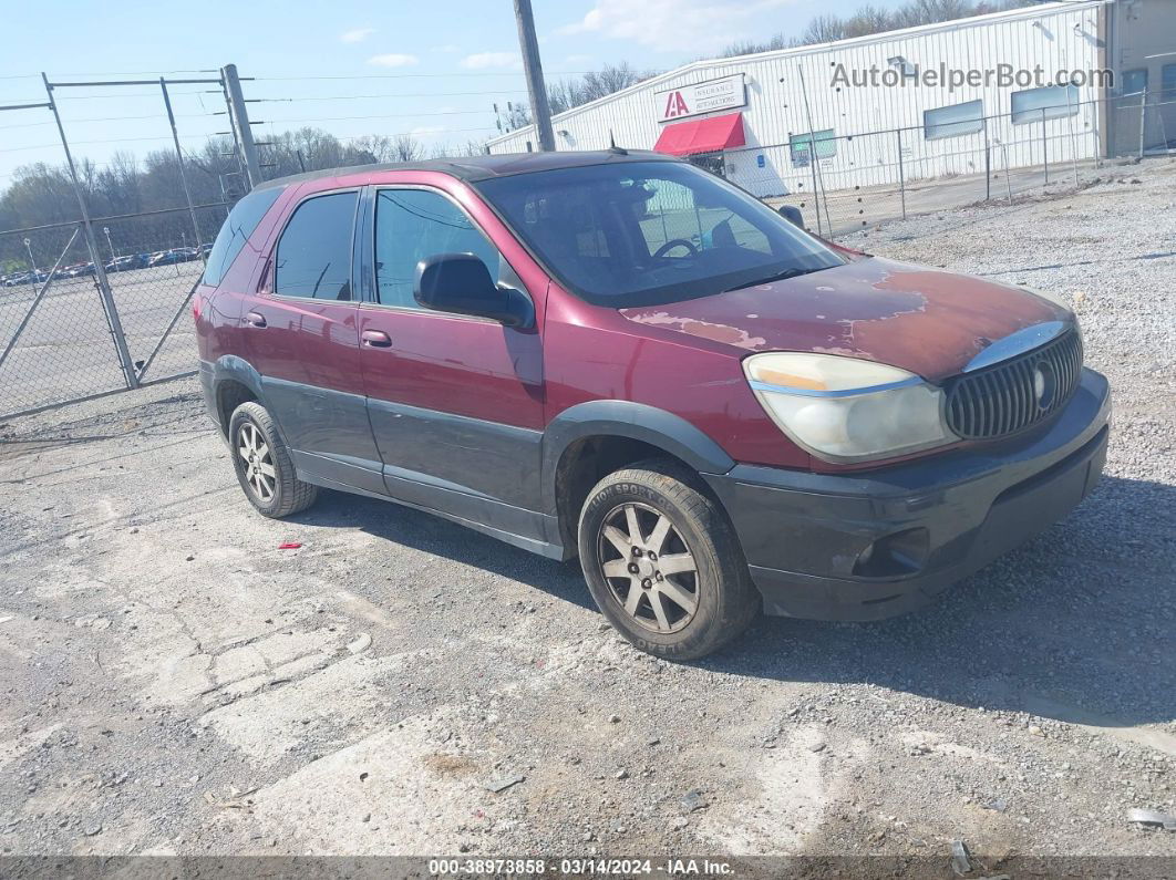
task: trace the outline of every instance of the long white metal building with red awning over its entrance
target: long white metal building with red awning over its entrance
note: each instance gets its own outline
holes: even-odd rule
[[[1163,146],[1176,139],[1176,54],[1141,48],[1144,35],[1176,52],[1176,0],[1068,0],[697,61],[559,114],[556,148],[689,155],[769,196],[813,190],[817,176],[844,189],[1127,152],[1116,141]],[[1112,83],[1085,75],[1103,69]],[[1142,95],[1120,96],[1129,90]],[[1140,113],[1144,99],[1156,121]],[[537,137],[528,126],[487,146],[526,152]]]

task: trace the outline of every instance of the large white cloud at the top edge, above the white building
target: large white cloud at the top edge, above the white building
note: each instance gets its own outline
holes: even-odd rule
[[[711,52],[764,31],[763,15],[796,0],[596,0],[562,36],[600,34],[655,51]],[[770,28],[769,28],[770,29]],[[777,28],[779,29],[779,28]]]

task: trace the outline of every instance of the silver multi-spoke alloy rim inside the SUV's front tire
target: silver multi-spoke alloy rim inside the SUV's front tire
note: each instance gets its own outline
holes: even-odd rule
[[[639,626],[677,632],[699,610],[694,553],[669,517],[628,502],[601,520],[600,560],[609,591]]]

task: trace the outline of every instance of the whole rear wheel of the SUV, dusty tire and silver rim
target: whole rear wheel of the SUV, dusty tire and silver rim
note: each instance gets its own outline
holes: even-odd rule
[[[233,410],[228,444],[241,491],[262,516],[281,519],[306,510],[319,497],[319,486],[295,476],[286,443],[260,403],[248,401]],[[246,458],[246,449],[253,464]]]

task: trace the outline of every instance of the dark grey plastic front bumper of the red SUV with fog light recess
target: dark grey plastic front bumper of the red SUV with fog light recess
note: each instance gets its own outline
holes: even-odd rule
[[[766,613],[877,620],[927,604],[1076,506],[1102,473],[1110,408],[1107,379],[1084,369],[1065,409],[1029,439],[864,473],[740,464],[706,479]]]

